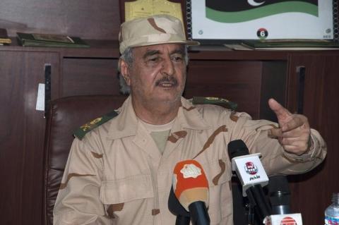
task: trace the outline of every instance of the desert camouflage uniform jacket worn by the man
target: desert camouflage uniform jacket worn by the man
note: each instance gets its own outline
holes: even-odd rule
[[[311,130],[311,151],[300,157],[288,154],[277,140],[268,138],[273,126],[277,124],[215,105],[192,105],[182,98],[160,154],[129,97],[118,116],[73,141],[54,224],[175,224],[167,207],[173,169],[177,162],[196,159],[210,186],[210,224],[232,225],[228,142],[242,139],[251,153],[261,152],[268,175],[304,173],[326,155],[326,144],[316,130]]]

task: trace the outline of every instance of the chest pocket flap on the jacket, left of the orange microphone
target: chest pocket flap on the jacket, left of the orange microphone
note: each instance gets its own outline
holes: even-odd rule
[[[100,200],[104,205],[126,203],[153,197],[152,177],[148,174],[114,181],[103,181]]]

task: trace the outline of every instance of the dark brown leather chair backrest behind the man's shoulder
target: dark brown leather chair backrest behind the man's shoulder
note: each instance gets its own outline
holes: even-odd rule
[[[53,224],[53,208],[69,156],[73,132],[84,123],[117,109],[126,96],[63,97],[50,103],[44,140],[43,223]]]

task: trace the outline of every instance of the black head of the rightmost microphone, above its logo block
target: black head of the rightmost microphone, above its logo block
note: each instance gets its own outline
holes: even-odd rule
[[[290,214],[290,187],[286,176],[271,176],[268,183],[268,195],[272,214]]]

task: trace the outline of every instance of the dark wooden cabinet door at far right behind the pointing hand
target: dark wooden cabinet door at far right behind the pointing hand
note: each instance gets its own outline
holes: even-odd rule
[[[302,212],[304,224],[323,224],[323,212],[331,204],[332,193],[339,190],[338,65],[338,56],[331,54],[297,54],[291,59],[289,108],[297,110],[297,68],[304,66],[304,115],[309,118],[311,127],[319,130],[328,147],[328,155],[323,164],[307,174],[290,177],[292,209],[294,212]]]

